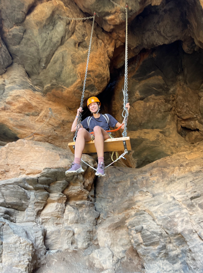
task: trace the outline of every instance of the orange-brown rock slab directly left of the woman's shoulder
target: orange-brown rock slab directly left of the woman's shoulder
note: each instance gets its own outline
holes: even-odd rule
[[[0,82],[2,141],[29,137],[67,147],[67,143],[73,140],[71,126],[75,112],[38,92],[21,65],[9,67]]]

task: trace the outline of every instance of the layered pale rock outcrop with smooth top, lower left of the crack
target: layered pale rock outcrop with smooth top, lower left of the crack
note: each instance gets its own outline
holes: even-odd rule
[[[91,197],[92,169],[84,166],[83,176],[65,177],[70,153],[46,143],[19,140],[0,152],[1,178],[7,179],[0,182],[2,272],[32,272],[46,249],[87,248],[99,216]],[[84,160],[94,166],[90,157]]]

